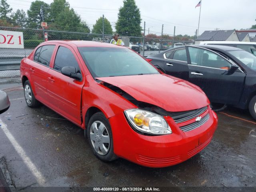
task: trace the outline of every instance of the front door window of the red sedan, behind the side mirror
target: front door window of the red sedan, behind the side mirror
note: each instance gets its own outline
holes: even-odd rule
[[[66,66],[75,67],[76,72],[80,73],[80,68],[74,54],[70,49],[60,46],[56,54],[54,69],[61,72],[62,67]]]

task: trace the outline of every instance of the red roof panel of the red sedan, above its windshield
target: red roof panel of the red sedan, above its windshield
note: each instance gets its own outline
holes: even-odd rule
[[[43,44],[49,44],[49,43],[63,43],[67,44],[70,46],[77,46],[77,47],[116,47],[117,45],[115,44],[110,44],[110,43],[103,43],[103,42],[96,42],[96,41],[84,41],[84,40],[79,40],[79,41],[60,41],[60,40],[52,40],[52,41],[47,41],[44,42]],[[118,46],[120,48],[125,48],[124,46]]]

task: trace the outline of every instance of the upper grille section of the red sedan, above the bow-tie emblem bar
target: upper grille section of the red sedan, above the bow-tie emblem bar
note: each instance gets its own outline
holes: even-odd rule
[[[192,118],[199,116],[200,114],[204,113],[206,110],[207,110],[207,106],[197,109],[197,110],[188,111],[183,114],[178,114],[176,116],[174,115],[174,116],[172,116],[172,118],[174,119],[174,121],[176,123],[181,123],[181,122],[185,122],[187,120],[190,120]]]

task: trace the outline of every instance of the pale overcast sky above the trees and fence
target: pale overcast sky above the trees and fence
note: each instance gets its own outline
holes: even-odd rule
[[[7,0],[13,10],[27,11],[33,0]],[[43,0],[50,4],[53,0]],[[122,0],[67,0],[70,7],[79,14],[92,30],[96,20],[104,14],[115,31],[118,9]],[[200,0],[135,0],[140,9],[142,29],[146,22],[146,34],[160,35],[162,24],[164,34],[194,36],[198,28]],[[202,0],[199,34],[205,30],[240,30],[256,24],[256,0]]]

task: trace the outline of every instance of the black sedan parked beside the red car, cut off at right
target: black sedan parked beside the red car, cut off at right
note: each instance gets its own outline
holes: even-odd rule
[[[232,46],[187,45],[148,56],[166,74],[199,86],[212,103],[249,109],[256,119],[256,56]]]

